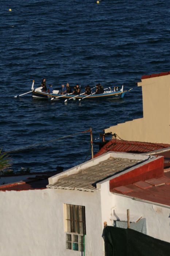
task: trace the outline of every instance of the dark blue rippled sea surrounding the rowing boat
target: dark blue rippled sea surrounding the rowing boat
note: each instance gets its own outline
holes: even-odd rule
[[[1,0],[0,147],[14,171],[65,169],[89,159],[89,133],[48,143],[92,127],[104,128],[142,117],[142,75],[170,70],[170,5],[143,0]],[[9,8],[12,11],[8,11]],[[42,78],[58,88],[134,88],[121,100],[48,101],[15,95]],[[40,143],[38,146],[34,146]],[[94,152],[98,146],[94,145]]]

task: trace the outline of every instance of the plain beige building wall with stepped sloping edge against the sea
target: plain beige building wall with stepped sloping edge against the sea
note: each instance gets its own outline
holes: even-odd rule
[[[124,140],[170,144],[170,75],[143,79],[143,118],[105,129]]]

